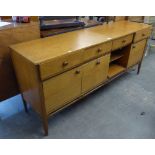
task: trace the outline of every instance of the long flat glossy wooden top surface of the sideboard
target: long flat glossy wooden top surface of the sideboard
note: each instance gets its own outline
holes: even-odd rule
[[[143,23],[119,21],[28,41],[12,45],[11,48],[32,63],[40,64],[54,57],[117,39],[146,28],[151,28],[151,26]]]

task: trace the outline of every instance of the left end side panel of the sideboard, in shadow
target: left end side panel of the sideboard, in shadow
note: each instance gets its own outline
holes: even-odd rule
[[[43,93],[38,76],[37,66],[12,51],[12,60],[20,91],[26,103],[31,104],[34,110],[42,113]]]

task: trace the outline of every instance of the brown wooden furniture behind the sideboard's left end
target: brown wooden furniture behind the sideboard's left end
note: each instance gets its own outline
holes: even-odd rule
[[[6,16],[7,17],[7,16]],[[2,19],[10,19],[3,17]],[[0,27],[0,101],[19,93],[9,46],[40,38],[38,22],[13,23]]]

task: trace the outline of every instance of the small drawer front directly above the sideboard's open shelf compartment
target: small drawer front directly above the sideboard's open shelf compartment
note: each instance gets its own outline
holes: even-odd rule
[[[133,39],[133,34],[114,40],[112,50],[114,51],[118,48],[122,48],[130,44],[132,42],[132,39]]]

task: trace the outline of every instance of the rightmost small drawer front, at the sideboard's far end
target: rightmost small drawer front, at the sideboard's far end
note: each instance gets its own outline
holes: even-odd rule
[[[150,34],[151,34],[151,29],[140,30],[140,31],[136,32],[136,34],[134,36],[134,42],[148,38],[150,36]]]

